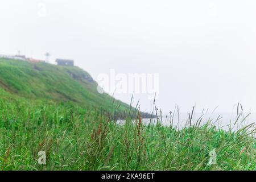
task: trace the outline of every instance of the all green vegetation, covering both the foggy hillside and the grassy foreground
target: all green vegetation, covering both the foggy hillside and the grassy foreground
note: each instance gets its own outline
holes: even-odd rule
[[[1,170],[256,170],[255,125],[176,130],[144,125],[140,114],[121,125],[115,113],[134,109],[89,92],[97,84],[81,69],[19,64],[0,61]],[[209,166],[214,148],[217,164]],[[46,165],[38,164],[39,151],[46,151]]]

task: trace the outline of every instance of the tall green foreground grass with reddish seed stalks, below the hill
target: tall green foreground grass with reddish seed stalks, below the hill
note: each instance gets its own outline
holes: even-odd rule
[[[189,119],[178,130],[161,122],[145,125],[139,114],[123,125],[112,116],[101,109],[1,100],[0,169],[256,169],[255,125],[224,131]],[[214,148],[217,164],[209,165]],[[46,165],[38,164],[39,151],[46,151]]]

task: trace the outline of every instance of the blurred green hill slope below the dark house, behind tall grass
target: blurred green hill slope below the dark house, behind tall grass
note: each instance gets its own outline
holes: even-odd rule
[[[97,82],[78,67],[0,59],[0,87],[11,96],[29,100],[68,101],[86,108],[104,107],[107,111],[129,108],[108,94],[98,93]]]

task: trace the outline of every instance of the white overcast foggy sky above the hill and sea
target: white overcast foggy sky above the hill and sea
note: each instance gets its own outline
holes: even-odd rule
[[[42,14],[46,7],[46,16]],[[156,104],[256,110],[256,1],[1,0],[0,54],[74,59],[100,73],[159,73]],[[131,94],[115,94],[129,102]],[[142,110],[151,102],[136,94]]]

